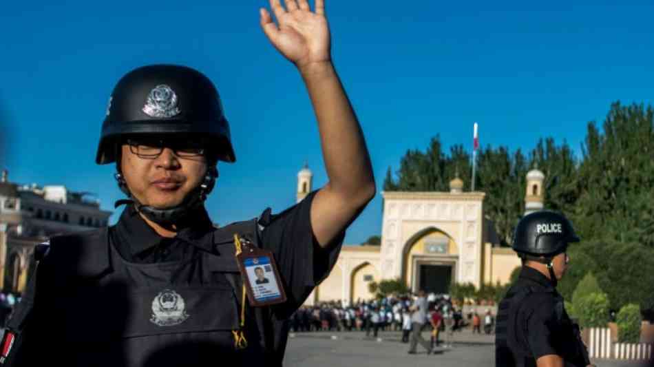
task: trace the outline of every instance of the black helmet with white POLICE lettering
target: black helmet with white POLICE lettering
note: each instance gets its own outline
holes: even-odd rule
[[[543,210],[524,216],[514,235],[513,249],[519,254],[552,256],[565,251],[571,242],[579,242],[565,216]]]

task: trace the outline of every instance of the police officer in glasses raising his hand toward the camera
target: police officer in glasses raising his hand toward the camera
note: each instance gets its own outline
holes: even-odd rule
[[[96,157],[116,163],[127,194],[117,205],[126,207],[113,227],[37,247],[1,364],[281,366],[288,317],[328,275],[375,181],[331,62],[324,0],[313,11],[306,0],[271,8],[277,23],[262,9],[261,26],[304,79],[329,182],[282,213],[214,228],[204,200],[217,162],[235,161],[217,90],[189,67],[129,72],[110,98]],[[244,298],[242,247],[271,253],[285,302]]]

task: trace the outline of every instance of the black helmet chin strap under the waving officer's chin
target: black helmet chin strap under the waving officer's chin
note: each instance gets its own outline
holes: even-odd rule
[[[209,169],[207,169],[207,174],[204,175],[202,183],[193,189],[193,191],[184,198],[184,201],[182,201],[180,205],[169,208],[156,208],[150,205],[141,204],[133,195],[131,195],[131,192],[129,192],[123,174],[118,172],[114,177],[118,182],[120,191],[123,191],[129,198],[128,200],[118,200],[116,202],[116,207],[123,204],[134,203],[136,210],[139,213],[142,213],[145,218],[156,224],[160,224],[162,227],[171,227],[171,225],[184,220],[184,218],[187,218],[189,213],[202,206],[204,200],[207,199],[207,195],[211,193],[215,186],[215,180],[218,178],[218,169],[216,169],[215,166],[209,167]]]

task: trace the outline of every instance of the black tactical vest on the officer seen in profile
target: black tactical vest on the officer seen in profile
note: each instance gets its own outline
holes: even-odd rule
[[[498,305],[495,328],[495,365],[500,367],[536,366],[536,359],[529,350],[527,340],[518,335],[527,335],[527,324],[520,324],[520,312],[536,307],[534,296],[547,293],[556,298],[556,321],[558,325],[552,331],[551,342],[560,352],[565,366],[585,367],[589,364],[579,328],[571,322],[563,307],[563,299],[555,289],[538,286],[512,286],[505,298]],[[520,331],[520,332],[518,332]]]

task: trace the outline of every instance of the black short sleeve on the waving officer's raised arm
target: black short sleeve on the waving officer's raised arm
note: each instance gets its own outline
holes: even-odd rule
[[[273,252],[288,298],[288,302],[277,309],[288,315],[302,305],[313,288],[329,275],[345,236],[343,231],[327,247],[319,246],[310,218],[316,192],[272,216],[261,233],[262,247]]]

